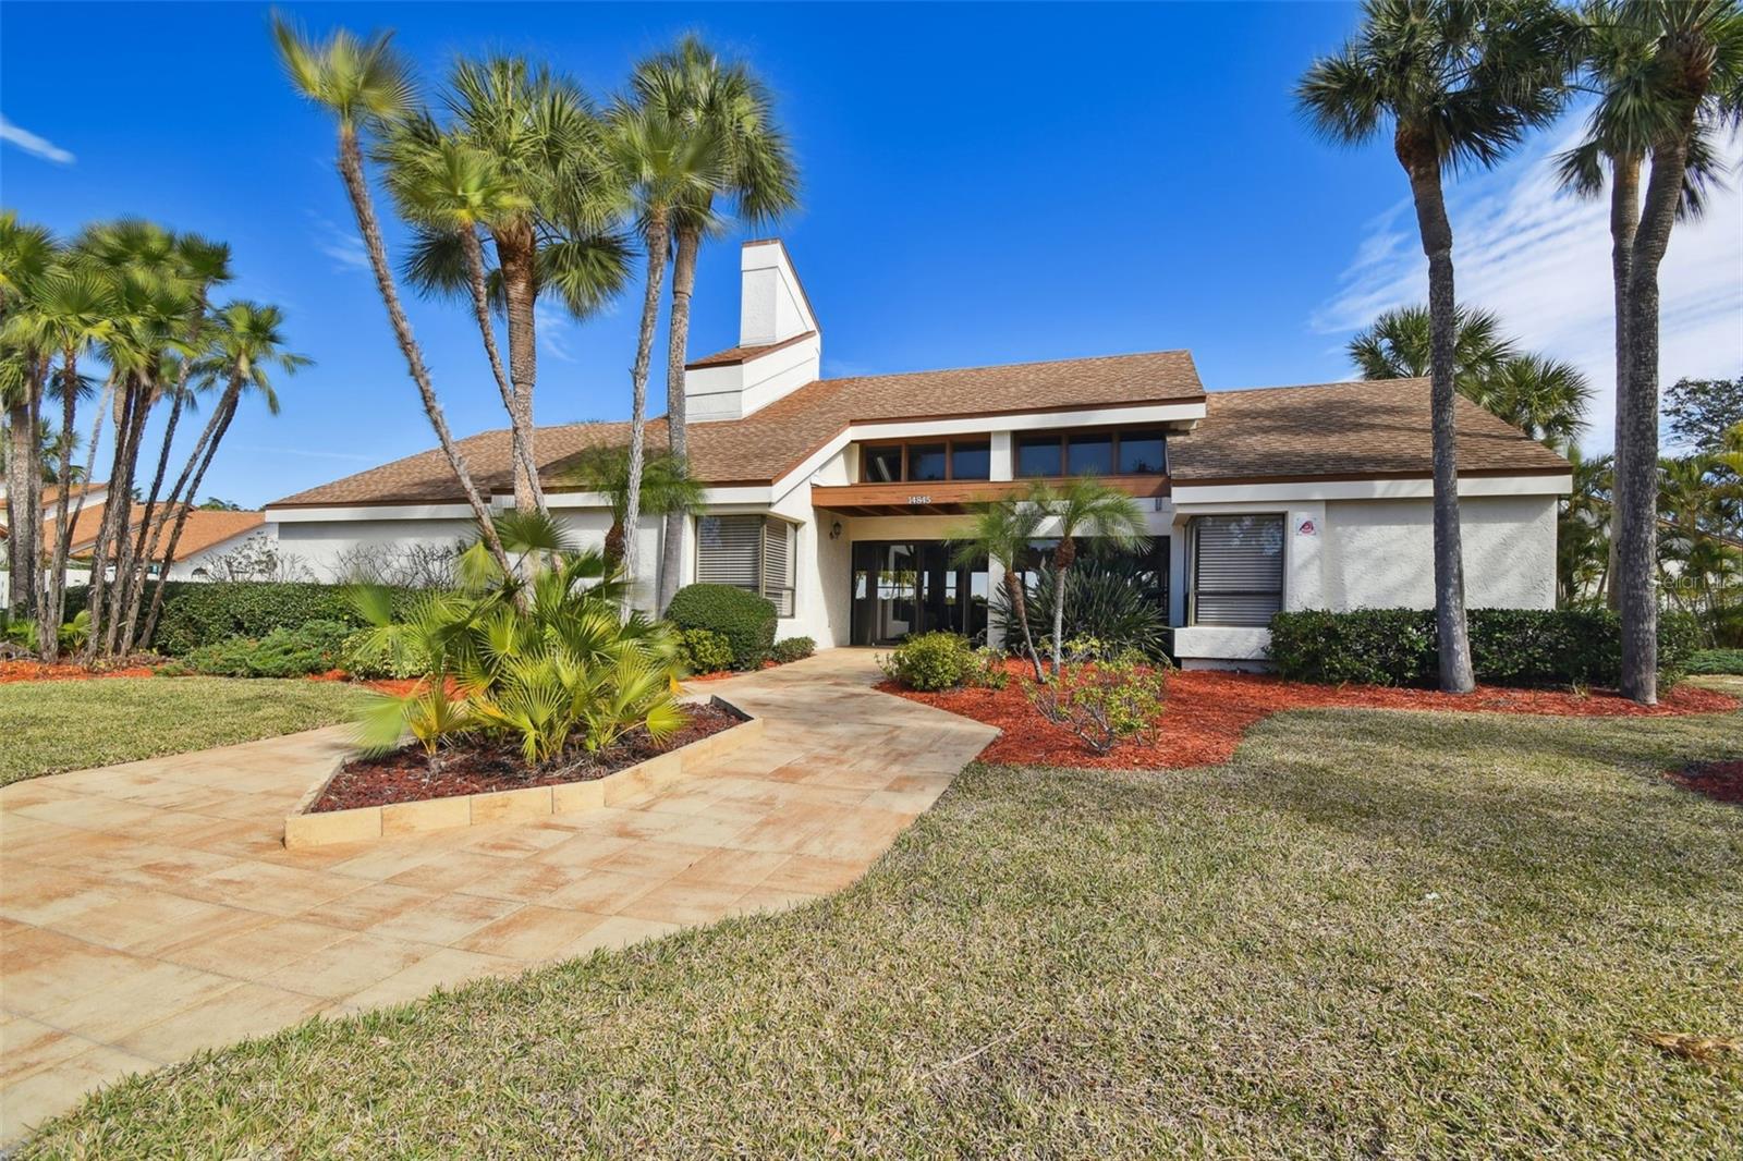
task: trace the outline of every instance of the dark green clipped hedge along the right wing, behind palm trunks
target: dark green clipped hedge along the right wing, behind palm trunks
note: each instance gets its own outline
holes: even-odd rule
[[[1556,687],[1621,680],[1621,617],[1584,608],[1473,608],[1471,666],[1487,685]],[[1687,614],[1658,621],[1658,666],[1675,680],[1694,654]],[[1440,633],[1431,608],[1281,612],[1271,619],[1271,659],[1297,682],[1438,685]]]

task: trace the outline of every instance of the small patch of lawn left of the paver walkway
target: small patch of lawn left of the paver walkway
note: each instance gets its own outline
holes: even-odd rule
[[[0,786],[343,722],[338,682],[101,678],[0,685]]]

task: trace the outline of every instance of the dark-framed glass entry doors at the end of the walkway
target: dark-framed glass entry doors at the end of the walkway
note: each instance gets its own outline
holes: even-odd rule
[[[987,633],[987,560],[953,565],[943,540],[854,542],[854,645],[915,633]]]

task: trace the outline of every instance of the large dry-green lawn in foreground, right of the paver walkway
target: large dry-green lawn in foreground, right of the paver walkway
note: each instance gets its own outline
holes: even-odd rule
[[[859,886],[117,1084],[21,1156],[1743,1151],[1743,716],[971,767]]]

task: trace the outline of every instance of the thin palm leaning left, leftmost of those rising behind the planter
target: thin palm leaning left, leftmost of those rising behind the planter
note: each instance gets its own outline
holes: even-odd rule
[[[305,98],[333,113],[338,122],[338,173],[350,197],[352,213],[357,216],[357,232],[363,235],[364,251],[370,255],[370,268],[375,274],[375,286],[387,307],[387,321],[394,328],[399,352],[406,359],[406,371],[418,389],[424,403],[424,415],[429,417],[431,429],[441,443],[448,469],[460,483],[465,502],[478,521],[486,551],[507,570],[509,558],[497,539],[497,528],[490,519],[490,507],[485,504],[472,472],[465,465],[465,455],[448,431],[441,403],[436,399],[436,387],[431,384],[429,368],[424,363],[424,349],[411,333],[411,321],[399,302],[399,288],[394,284],[394,270],[387,263],[387,244],[382,241],[382,223],[375,216],[375,200],[370,195],[370,181],[363,171],[363,146],[359,134],[380,131],[403,120],[411,110],[411,77],[404,63],[394,54],[389,35],[361,40],[352,33],[335,31],[324,44],[307,38],[298,28],[281,16],[272,19],[272,33],[277,40],[279,59],[291,78],[291,85]],[[190,493],[192,495],[192,493]],[[153,593],[153,608],[159,603]],[[146,621],[150,629],[152,619]]]

